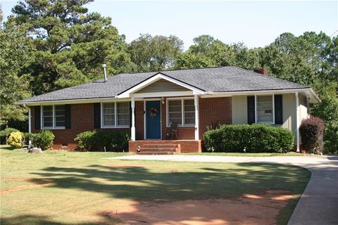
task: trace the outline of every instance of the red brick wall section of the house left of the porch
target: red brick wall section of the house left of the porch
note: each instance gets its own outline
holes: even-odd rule
[[[35,113],[34,107],[32,110],[32,133],[37,133],[40,130],[35,129]],[[71,128],[70,129],[51,129],[55,135],[54,149],[61,149],[62,144],[68,144],[68,149],[77,147],[75,136],[83,131],[94,130],[94,104],[74,104],[70,106],[71,112]],[[129,129],[103,129],[103,130],[129,130]]]

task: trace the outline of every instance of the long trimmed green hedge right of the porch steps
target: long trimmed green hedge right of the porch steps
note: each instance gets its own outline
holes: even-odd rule
[[[268,124],[221,125],[203,135],[204,148],[215,152],[286,153],[294,146],[294,134]]]

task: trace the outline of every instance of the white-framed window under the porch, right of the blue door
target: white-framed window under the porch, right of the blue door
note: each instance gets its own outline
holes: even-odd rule
[[[194,99],[175,99],[168,100],[168,121],[177,126],[194,126],[195,124],[195,105]]]

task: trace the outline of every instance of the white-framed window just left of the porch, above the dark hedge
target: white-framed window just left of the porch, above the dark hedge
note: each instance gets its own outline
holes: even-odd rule
[[[129,127],[129,102],[102,103],[102,127]]]

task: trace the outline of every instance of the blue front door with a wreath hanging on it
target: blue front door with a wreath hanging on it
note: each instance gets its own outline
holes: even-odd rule
[[[161,101],[146,101],[146,139],[161,139]]]

